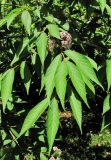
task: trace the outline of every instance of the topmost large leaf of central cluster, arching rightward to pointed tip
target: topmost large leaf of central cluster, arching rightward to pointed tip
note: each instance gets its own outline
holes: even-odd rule
[[[96,73],[90,61],[86,58],[86,56],[71,50],[65,51],[65,54],[76,63],[80,72],[84,74],[84,76],[87,76],[90,80],[94,81],[101,88],[103,88],[103,86],[101,85],[101,83],[99,82],[96,76]]]

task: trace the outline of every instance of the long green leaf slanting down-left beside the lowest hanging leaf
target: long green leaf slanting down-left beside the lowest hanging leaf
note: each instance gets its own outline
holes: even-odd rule
[[[19,137],[32,127],[32,125],[38,120],[38,118],[46,110],[47,107],[48,107],[48,101],[47,99],[44,99],[30,110],[30,112],[28,113],[28,115],[24,120]]]

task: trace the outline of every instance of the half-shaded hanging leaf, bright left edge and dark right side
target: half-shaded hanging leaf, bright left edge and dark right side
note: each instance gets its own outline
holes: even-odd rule
[[[31,84],[31,73],[26,61],[23,61],[20,65],[20,75],[24,82],[27,94],[29,94],[29,88]]]

